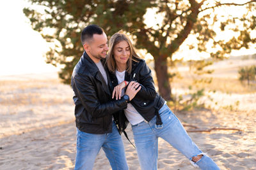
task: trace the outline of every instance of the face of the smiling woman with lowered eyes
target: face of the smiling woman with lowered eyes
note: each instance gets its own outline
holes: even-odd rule
[[[126,65],[127,60],[130,57],[130,46],[127,41],[120,41],[120,43],[114,46],[114,58],[118,66]]]

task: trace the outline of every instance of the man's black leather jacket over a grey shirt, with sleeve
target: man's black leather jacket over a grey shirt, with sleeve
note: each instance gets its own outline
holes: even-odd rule
[[[124,98],[112,101],[108,85],[86,52],[74,67],[71,86],[77,128],[92,134],[112,132],[112,114],[127,108],[127,103]]]

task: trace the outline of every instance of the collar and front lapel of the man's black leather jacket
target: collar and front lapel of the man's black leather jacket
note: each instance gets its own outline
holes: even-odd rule
[[[83,53],[83,56],[82,56],[82,62],[84,62],[84,65],[85,67],[88,68],[88,71],[90,71],[90,73],[95,77],[95,79],[99,80],[101,85],[102,85],[102,89],[109,95],[110,94],[110,91],[109,91],[109,87],[108,85],[106,84],[106,81],[104,80],[102,74],[100,73],[98,67],[96,66],[95,62],[93,62],[93,60],[89,57],[89,55],[84,52]],[[105,60],[100,60],[100,62],[102,62],[103,66],[104,66],[104,63],[105,63]],[[106,71],[106,74],[107,74],[107,79],[109,81],[109,75]],[[109,83],[109,82],[108,82]]]

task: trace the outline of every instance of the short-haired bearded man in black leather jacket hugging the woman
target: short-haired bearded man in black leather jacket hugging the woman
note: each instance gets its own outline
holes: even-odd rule
[[[129,169],[112,114],[127,108],[127,102],[140,88],[136,82],[129,83],[126,95],[112,101],[108,87],[111,82],[103,66],[108,51],[105,32],[97,25],[88,25],[81,33],[81,41],[84,53],[71,78],[77,127],[75,169],[92,169],[100,148],[112,169]]]

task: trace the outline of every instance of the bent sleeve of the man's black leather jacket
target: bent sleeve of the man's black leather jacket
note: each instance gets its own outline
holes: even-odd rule
[[[74,90],[76,91],[76,95],[86,111],[92,114],[93,118],[111,115],[118,110],[127,108],[127,103],[123,98],[117,101],[107,99],[106,101],[108,102],[106,103],[100,102],[99,97],[102,96],[100,96],[99,92],[97,92],[98,89],[95,87],[95,84],[90,76],[76,74],[76,76],[74,76]]]

